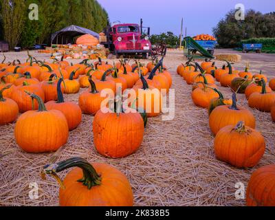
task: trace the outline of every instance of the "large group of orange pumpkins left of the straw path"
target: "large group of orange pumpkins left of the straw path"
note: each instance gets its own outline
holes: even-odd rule
[[[141,146],[147,118],[159,116],[162,96],[172,86],[163,58],[147,67],[137,61],[129,65],[126,60],[110,65],[100,58],[96,63],[85,60],[75,65],[63,60],[45,63],[30,55],[25,63],[5,63],[4,59],[0,63],[0,125],[16,122],[14,137],[19,147],[27,153],[47,153],[67,143],[69,131],[80,125],[83,113],[94,115],[94,146],[98,153],[111,158],[129,156]],[[106,98],[100,92],[107,89],[115,96],[118,85],[120,91],[137,93],[131,108],[142,107],[142,112],[124,113],[118,105],[116,111],[102,110]],[[80,88],[87,90],[80,94],[78,104],[64,100],[63,94],[77,94]],[[159,107],[154,106],[155,99]],[[64,180],[69,188],[61,187],[61,206],[133,206],[129,181],[107,164],[71,158],[54,169],[45,166],[44,172],[56,175],[75,166],[80,169],[72,170]],[[74,190],[70,190],[72,187]],[[72,193],[78,192],[86,194],[76,201]]]

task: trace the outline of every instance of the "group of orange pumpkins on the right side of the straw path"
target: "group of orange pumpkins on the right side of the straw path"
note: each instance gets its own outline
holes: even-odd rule
[[[209,126],[214,139],[217,159],[236,168],[253,168],[265,153],[265,138],[256,131],[253,113],[237,104],[236,94],[245,94],[252,109],[272,114],[275,122],[275,78],[267,85],[267,77],[252,74],[249,65],[239,72],[228,61],[221,68],[206,60],[200,65],[192,58],[177,67],[188,85],[192,85],[192,100],[209,113]],[[226,99],[217,84],[232,90]],[[275,206],[275,164],[253,173],[247,189],[248,206]]]

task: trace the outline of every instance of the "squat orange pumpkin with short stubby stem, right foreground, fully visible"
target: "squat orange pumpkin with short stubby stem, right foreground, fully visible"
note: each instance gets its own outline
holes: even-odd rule
[[[259,131],[238,122],[221,129],[214,140],[217,159],[237,168],[256,166],[265,153],[265,138]]]

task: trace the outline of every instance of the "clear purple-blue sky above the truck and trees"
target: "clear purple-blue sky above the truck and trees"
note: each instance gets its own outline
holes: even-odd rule
[[[140,23],[151,27],[152,34],[172,31],[179,34],[181,17],[188,36],[212,34],[212,28],[237,3],[245,10],[275,11],[274,0],[98,0],[109,13],[110,21]]]

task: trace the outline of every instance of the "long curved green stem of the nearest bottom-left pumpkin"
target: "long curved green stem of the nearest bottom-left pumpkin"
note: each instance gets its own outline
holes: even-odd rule
[[[82,183],[83,186],[87,186],[89,190],[93,186],[101,185],[102,178],[98,175],[98,173],[96,173],[95,168],[89,164],[86,159],[80,157],[67,159],[63,162],[59,162],[58,164],[46,165],[44,166],[44,173],[47,175],[56,175],[56,173],[60,173],[63,170],[67,170],[72,167],[78,167],[83,170],[83,178],[79,179],[78,182]]]

